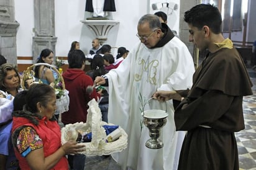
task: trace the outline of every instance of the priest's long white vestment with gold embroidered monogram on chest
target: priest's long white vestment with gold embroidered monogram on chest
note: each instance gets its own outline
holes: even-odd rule
[[[128,134],[128,147],[112,154],[122,169],[176,169],[185,132],[175,132],[172,101],[167,102],[168,120],[160,139],[163,148],[145,146],[150,138],[145,125],[141,127],[140,94],[150,99],[157,90],[190,88],[194,73],[193,58],[186,45],[173,37],[163,47],[147,48],[139,43],[117,69],[106,74],[109,81],[109,123],[120,125]],[[145,110],[166,110],[164,102],[151,100]],[[142,129],[141,129],[142,128]]]

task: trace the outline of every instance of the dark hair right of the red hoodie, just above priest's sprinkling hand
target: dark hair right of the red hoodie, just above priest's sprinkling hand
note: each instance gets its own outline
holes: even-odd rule
[[[94,81],[97,76],[102,76],[108,71],[104,68],[104,58],[101,55],[94,55],[92,65],[92,70],[88,71],[88,74]]]

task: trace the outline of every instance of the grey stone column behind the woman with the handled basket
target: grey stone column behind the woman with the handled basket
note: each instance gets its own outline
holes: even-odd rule
[[[40,52],[49,48],[55,53],[57,37],[55,37],[55,7],[54,0],[34,0],[35,37],[33,37],[33,61]]]

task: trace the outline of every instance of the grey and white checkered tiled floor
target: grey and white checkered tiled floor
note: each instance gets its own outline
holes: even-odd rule
[[[240,170],[256,170],[256,71],[248,69],[254,83],[254,94],[244,97],[245,129],[235,133],[239,150]],[[120,166],[109,157],[87,157],[85,169],[121,170]],[[157,169],[156,169],[157,170]]]

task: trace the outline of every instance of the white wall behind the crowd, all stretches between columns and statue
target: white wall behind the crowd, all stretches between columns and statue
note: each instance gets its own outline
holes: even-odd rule
[[[180,6],[180,0],[170,1],[177,1]],[[17,56],[32,56],[34,1],[14,0],[14,2],[15,17],[20,24],[17,31]],[[139,42],[139,38],[135,36],[137,22],[149,11],[149,2],[150,0],[116,0],[116,12],[111,12],[111,15],[112,19],[120,23],[109,31],[105,43],[112,47],[122,46],[131,50],[134,44]],[[91,41],[96,35],[80,22],[89,15],[89,12],[85,12],[85,3],[86,0],[55,0],[55,36],[58,38],[56,56],[67,56],[73,41],[80,42],[80,49],[85,54],[91,48]],[[112,50],[112,53],[116,55],[116,50]]]

